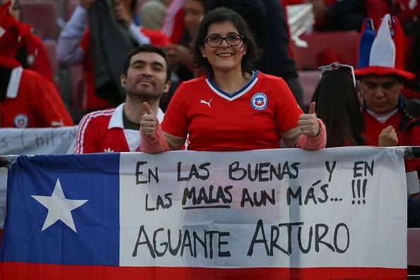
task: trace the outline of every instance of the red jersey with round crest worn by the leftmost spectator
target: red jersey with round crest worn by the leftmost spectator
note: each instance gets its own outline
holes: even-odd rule
[[[0,127],[74,125],[54,85],[28,69],[16,67],[0,103]]]

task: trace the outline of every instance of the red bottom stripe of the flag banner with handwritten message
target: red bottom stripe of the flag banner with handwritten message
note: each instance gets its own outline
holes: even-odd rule
[[[240,268],[201,267],[107,267],[59,264],[0,264],[0,279],[13,280],[243,280],[243,279],[407,279],[407,269],[371,267]]]

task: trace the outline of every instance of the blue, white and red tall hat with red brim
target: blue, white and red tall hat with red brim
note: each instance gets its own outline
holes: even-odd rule
[[[378,33],[373,21],[368,18],[363,23],[358,49],[356,76],[392,75],[414,78],[414,74],[404,70],[404,33],[397,17],[386,14]]]

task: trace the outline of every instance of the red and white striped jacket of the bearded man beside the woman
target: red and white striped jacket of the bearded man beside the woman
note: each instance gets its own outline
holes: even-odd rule
[[[140,132],[124,129],[123,108],[124,103],[85,115],[78,124],[74,153],[136,151],[140,145]],[[163,112],[160,109],[157,117],[161,122]]]

